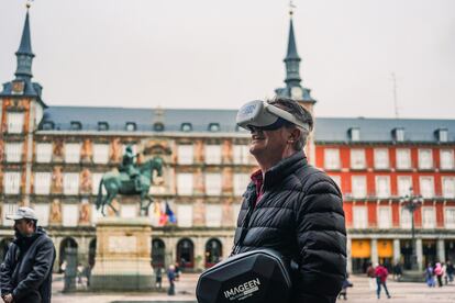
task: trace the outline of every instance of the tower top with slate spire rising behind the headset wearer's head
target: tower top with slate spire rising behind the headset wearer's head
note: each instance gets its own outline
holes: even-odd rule
[[[296,36],[293,33],[293,5],[290,4],[289,10],[289,36],[288,36],[288,49],[284,59],[286,65],[286,87],[278,88],[275,90],[277,97],[291,98],[299,101],[300,104],[312,111],[312,106],[315,100],[311,97],[311,90],[304,88],[301,85],[302,79],[300,78],[300,61],[301,58],[297,52]]]

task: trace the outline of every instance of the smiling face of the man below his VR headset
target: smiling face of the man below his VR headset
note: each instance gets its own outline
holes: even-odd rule
[[[253,156],[275,159],[280,157],[288,147],[290,131],[287,127],[280,127],[275,131],[263,131],[257,127],[251,128],[252,141],[249,153]]]

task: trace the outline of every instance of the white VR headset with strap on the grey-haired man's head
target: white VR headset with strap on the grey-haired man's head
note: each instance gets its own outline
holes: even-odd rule
[[[291,113],[260,100],[251,101],[243,105],[237,112],[236,123],[248,131],[252,127],[264,131],[278,130],[286,123],[292,123],[307,131],[310,130],[308,123],[298,121]]]

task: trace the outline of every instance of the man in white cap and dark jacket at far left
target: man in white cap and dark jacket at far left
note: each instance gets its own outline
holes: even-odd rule
[[[14,220],[15,238],[0,266],[1,298],[5,303],[51,302],[54,244],[37,227],[32,209],[19,207],[7,218]]]

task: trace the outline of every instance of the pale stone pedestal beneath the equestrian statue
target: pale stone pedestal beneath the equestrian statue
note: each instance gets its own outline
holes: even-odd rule
[[[97,224],[92,290],[152,290],[152,224],[147,217],[103,217]]]

